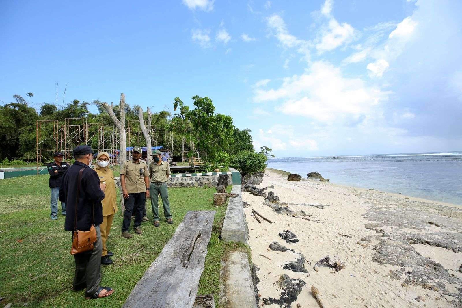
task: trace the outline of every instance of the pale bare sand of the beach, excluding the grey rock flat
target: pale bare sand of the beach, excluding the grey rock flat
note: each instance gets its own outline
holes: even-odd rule
[[[289,182],[286,180],[286,175],[280,175],[269,170],[266,170],[266,174],[262,185],[263,187],[274,185],[274,189],[267,191],[274,191],[274,194],[280,197],[280,202],[325,204],[328,206],[325,206],[326,209],[318,209],[312,206],[289,204],[290,209],[294,211],[304,210],[320,221],[320,223],[315,223],[280,215],[263,204],[264,198],[243,192],[243,201],[250,204],[247,209],[244,209],[244,212],[249,227],[248,241],[252,251],[252,261],[260,268],[257,271],[257,276],[260,279],[257,288],[261,298],[267,296],[279,298],[281,290],[278,290],[277,285],[273,283],[278,280],[280,274],[287,274],[291,278],[300,278],[306,282],[306,286],[303,287],[297,300],[292,303],[292,307],[296,307],[297,303],[300,303],[303,308],[319,307],[309,290],[313,284],[320,290],[327,307],[422,307],[424,304],[428,307],[453,307],[454,304],[458,304],[457,301],[452,304],[448,301],[457,300],[455,297],[446,295],[444,296],[445,299],[440,292],[434,290],[427,290],[414,285],[403,287],[401,283],[404,280],[400,279],[400,272],[403,270],[412,271],[412,268],[384,265],[373,260],[376,253],[373,248],[381,239],[377,238],[376,231],[365,228],[365,224],[371,220],[367,220],[363,215],[374,206],[378,206],[381,210],[380,200],[384,198],[388,201],[392,200],[391,203],[387,203],[387,207],[390,207],[390,204],[391,206],[398,205],[405,196],[314,180],[302,179],[300,182]],[[415,198],[410,198],[410,201],[412,201],[411,199]],[[415,200],[418,200],[421,205],[422,200]],[[432,205],[435,204],[432,203]],[[263,220],[261,224],[258,223],[251,214],[252,208],[274,223],[269,224]],[[454,219],[460,221],[460,218]],[[435,228],[433,225],[429,227]],[[413,230],[412,228],[409,229]],[[278,233],[283,230],[292,231],[300,241],[295,244],[286,243],[278,236]],[[338,233],[353,237],[347,238]],[[382,234],[379,235],[382,236]],[[366,236],[371,236],[370,245],[359,245],[358,241]],[[282,269],[282,265],[295,260],[296,255],[290,251],[276,252],[270,250],[268,246],[273,241],[278,241],[279,244],[302,253],[306,258],[305,268],[308,273]],[[449,254],[449,263],[452,267],[455,267],[456,264],[462,264],[462,253],[454,253],[441,247],[418,245],[420,245],[418,247],[420,253],[427,253],[430,258],[433,256],[437,262],[438,258],[448,259]],[[271,261],[261,255],[266,256]],[[319,272],[314,271],[314,263],[327,255],[338,255],[345,261],[346,269],[335,272],[332,268],[321,265]],[[395,279],[390,277],[390,271],[398,271],[398,277]],[[451,271],[451,273],[460,274],[462,277],[462,274],[457,271]],[[448,285],[451,292],[459,292],[457,287],[460,288],[461,285]],[[426,302],[417,302],[415,300],[417,296],[423,296]],[[260,306],[261,304],[262,301],[260,301]],[[278,305],[273,304],[271,307],[278,307]]]

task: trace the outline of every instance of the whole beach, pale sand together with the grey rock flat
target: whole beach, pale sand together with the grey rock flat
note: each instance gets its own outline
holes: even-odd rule
[[[302,308],[319,307],[311,285],[319,289],[324,307],[460,307],[460,207],[314,179],[290,182],[287,175],[269,169],[261,185],[274,185],[265,192],[274,191],[280,203],[289,203],[295,212],[303,210],[319,223],[276,213],[263,204],[263,197],[243,192],[243,201],[250,204],[244,213],[252,261],[259,267],[259,306],[263,298],[281,296],[274,282],[287,274],[306,283],[290,307],[298,303]],[[322,204],[325,209],[308,204]],[[273,223],[262,219],[258,223],[252,208]],[[296,234],[299,241],[286,243],[278,235],[283,230]],[[273,241],[302,253],[308,272],[283,269],[297,255],[269,249]],[[326,265],[319,265],[319,272],[313,269],[318,260],[334,255],[345,262],[345,269],[336,272]]]

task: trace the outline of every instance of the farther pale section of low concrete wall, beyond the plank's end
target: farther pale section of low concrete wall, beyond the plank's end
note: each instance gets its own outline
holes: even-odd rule
[[[242,207],[241,185],[234,185],[231,193],[238,196],[228,199],[225,221],[221,229],[221,238],[247,244],[247,228],[245,223],[244,209]]]

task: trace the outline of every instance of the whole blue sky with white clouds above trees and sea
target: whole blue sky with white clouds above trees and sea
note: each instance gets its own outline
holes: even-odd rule
[[[460,151],[462,1],[2,1],[0,100],[210,97],[279,157]],[[0,104],[3,104],[0,102]]]

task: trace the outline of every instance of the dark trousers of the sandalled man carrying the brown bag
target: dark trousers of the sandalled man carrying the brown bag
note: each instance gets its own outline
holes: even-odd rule
[[[85,296],[94,295],[101,282],[101,249],[103,245],[101,244],[99,226],[95,226],[95,229],[96,242],[93,244],[93,250],[74,254],[74,289],[86,286]]]

